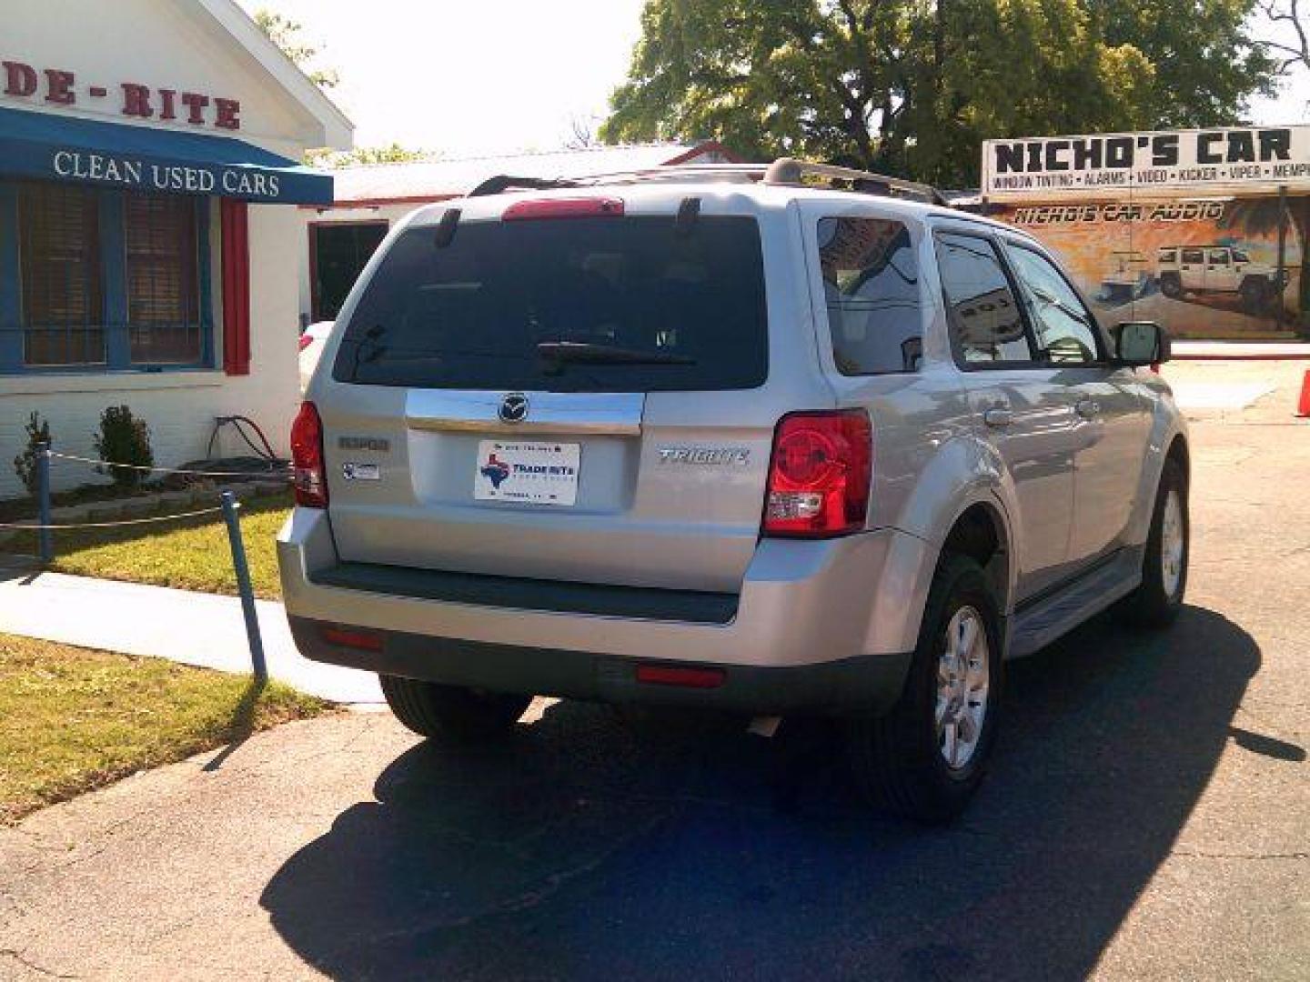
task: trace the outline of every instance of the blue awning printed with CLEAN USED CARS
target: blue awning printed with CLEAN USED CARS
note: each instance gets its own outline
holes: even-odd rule
[[[331,177],[228,136],[0,109],[0,177],[331,204]]]

